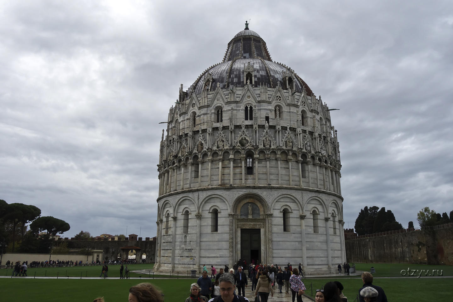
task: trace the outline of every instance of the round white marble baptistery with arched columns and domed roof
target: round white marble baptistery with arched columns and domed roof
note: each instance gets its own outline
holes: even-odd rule
[[[246,24],[169,108],[154,270],[333,272],[346,261],[340,169],[328,106]]]

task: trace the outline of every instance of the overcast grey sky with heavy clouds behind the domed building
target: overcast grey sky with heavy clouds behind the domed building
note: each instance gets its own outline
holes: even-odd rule
[[[155,236],[158,122],[248,19],[340,109],[345,227],[364,206],[405,227],[453,210],[448,0],[2,1],[0,199],[69,222],[67,237]]]

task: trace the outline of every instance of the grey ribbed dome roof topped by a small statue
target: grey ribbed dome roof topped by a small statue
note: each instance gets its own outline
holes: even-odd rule
[[[310,87],[294,73],[294,70],[288,66],[272,61],[265,41],[259,34],[253,30],[246,29],[237,33],[226,48],[225,56],[222,62],[207,68],[198,79],[188,89],[187,96],[193,92],[200,94],[202,92],[205,79],[212,77],[211,90],[220,84],[220,88],[229,86],[242,87],[244,86],[244,69],[246,66],[254,69],[255,86],[265,85],[270,88],[275,88],[278,83],[285,87],[283,81],[284,73],[293,75],[294,90],[302,93],[304,90],[308,94],[312,94]]]

